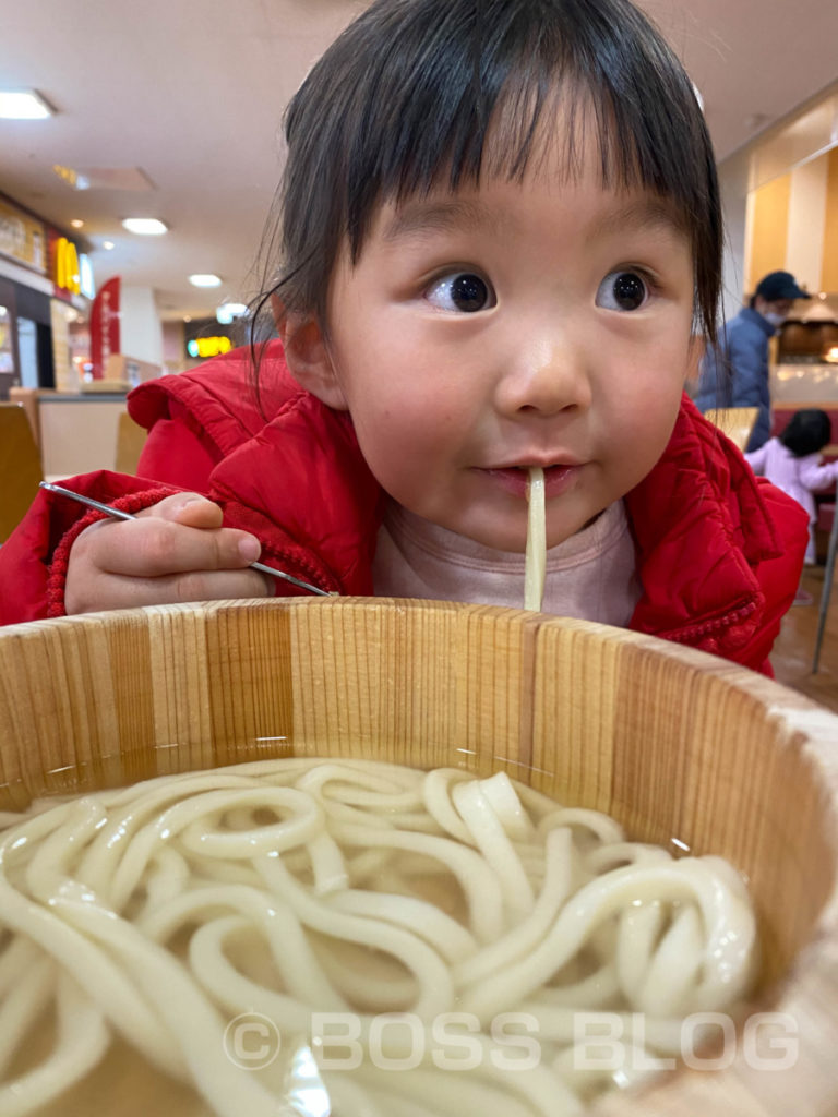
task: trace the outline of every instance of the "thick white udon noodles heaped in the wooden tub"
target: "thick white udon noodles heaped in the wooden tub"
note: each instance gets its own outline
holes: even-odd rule
[[[504,773],[287,758],[4,821],[7,1117],[61,1111],[115,1037],[220,1117],[577,1114],[632,1076],[579,1058],[580,1013],[674,1054],[682,1019],[729,1009],[753,968],[727,862],[629,842]],[[230,1053],[242,1014],[276,1030],[258,1072]],[[21,1069],[45,1015],[54,1044]],[[324,1018],[351,1022],[337,1054]]]

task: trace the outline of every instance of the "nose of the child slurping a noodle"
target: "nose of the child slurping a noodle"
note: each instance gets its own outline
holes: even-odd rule
[[[506,414],[552,416],[590,402],[584,346],[569,337],[525,343],[498,384],[498,407]]]

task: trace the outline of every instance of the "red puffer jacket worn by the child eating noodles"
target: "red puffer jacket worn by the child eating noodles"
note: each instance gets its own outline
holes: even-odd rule
[[[128,410],[150,431],[140,476],[99,471],[69,487],[133,509],[194,488],[222,505],[226,523],[256,534],[268,562],[325,590],[372,593],[382,491],[349,416],[299,388],[278,342],[264,355],[258,399],[249,353],[236,350],[147,381]],[[802,508],[755,478],[686,397],[664,455],[625,500],[644,590],[630,627],[770,672],[802,566]],[[66,554],[97,515],[79,518],[68,505],[41,493],[0,548],[0,586],[16,586],[0,590],[3,623],[63,612]]]

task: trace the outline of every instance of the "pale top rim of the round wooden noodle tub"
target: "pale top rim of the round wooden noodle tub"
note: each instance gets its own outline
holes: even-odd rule
[[[496,617],[535,632],[543,628],[596,631],[606,641],[629,643],[654,655],[665,656],[688,670],[702,674],[710,671],[725,686],[751,699],[756,698],[765,709],[765,717],[779,724],[782,734],[789,741],[794,741],[807,763],[817,770],[831,814],[834,833],[830,838],[838,851],[838,715],[775,679],[705,651],[647,633],[499,605],[408,598],[295,596],[150,605],[27,621],[0,629],[0,653],[6,645],[42,641],[50,631],[67,627],[101,628],[103,623],[106,627],[130,626],[147,623],[154,617],[177,618],[190,614],[217,620],[230,611],[249,610],[294,614],[301,609],[360,609],[377,613],[384,610],[444,610],[466,615]],[[711,1106],[718,1114],[730,1114],[731,1117],[739,1114],[742,1117],[785,1117],[791,1111],[801,1117],[826,1117],[835,1111],[838,1108],[838,1076],[834,1069],[834,1051],[838,1047],[838,871],[832,879],[831,894],[812,929],[811,939],[799,952],[789,972],[771,994],[773,1011],[785,1013],[796,1022],[797,1047],[801,1052],[797,1066],[775,1072],[764,1065],[754,1068],[746,1053],[743,1053],[742,1044],[737,1044],[733,1061],[723,1069],[707,1072],[698,1068],[679,1067],[676,1071],[664,1075],[659,1081],[653,1080],[637,1090],[611,1095],[589,1111],[613,1114],[615,1117],[692,1117]]]

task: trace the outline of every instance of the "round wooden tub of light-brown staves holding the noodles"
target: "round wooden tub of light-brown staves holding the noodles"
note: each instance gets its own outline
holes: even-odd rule
[[[503,768],[636,839],[730,858],[762,920],[754,1011],[787,1014],[791,1065],[754,1066],[740,1027],[730,1066],[597,1111],[838,1113],[834,715],[653,638],[476,605],[223,602],[0,630],[2,809],[289,754]]]

